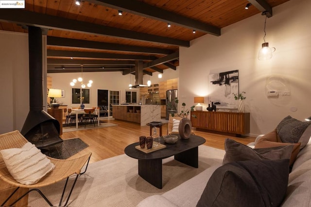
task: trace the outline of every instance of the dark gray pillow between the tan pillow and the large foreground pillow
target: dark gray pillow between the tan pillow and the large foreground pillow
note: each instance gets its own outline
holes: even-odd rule
[[[293,148],[293,145],[287,145],[252,149],[233,139],[227,138],[225,139],[223,164],[243,160],[289,159],[292,155]]]

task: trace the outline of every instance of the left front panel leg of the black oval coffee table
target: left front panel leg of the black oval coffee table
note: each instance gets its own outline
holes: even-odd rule
[[[148,183],[162,189],[162,159],[138,159],[138,174]]]

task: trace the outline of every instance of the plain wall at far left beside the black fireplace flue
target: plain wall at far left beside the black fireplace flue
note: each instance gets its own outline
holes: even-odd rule
[[[21,130],[29,111],[28,35],[1,31],[0,46],[2,134]]]

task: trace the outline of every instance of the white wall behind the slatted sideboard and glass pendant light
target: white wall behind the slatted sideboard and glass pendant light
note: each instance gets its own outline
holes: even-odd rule
[[[206,110],[208,74],[238,69],[240,91],[246,92],[246,111],[251,115],[251,135],[272,131],[287,115],[298,120],[309,117],[310,11],[310,0],[290,0],[273,9],[265,39],[276,52],[268,61],[257,59],[264,35],[261,14],[223,28],[219,37],[205,35],[191,41],[190,48],[180,48],[180,101],[190,106],[193,97],[204,96]],[[290,90],[291,96],[268,98],[268,88]]]

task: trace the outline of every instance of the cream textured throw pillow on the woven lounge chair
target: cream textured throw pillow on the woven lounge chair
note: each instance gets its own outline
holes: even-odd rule
[[[27,142],[22,148],[0,150],[6,168],[24,185],[37,183],[54,169],[54,164],[34,144]]]

